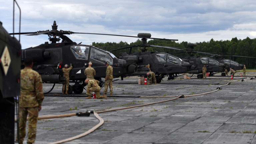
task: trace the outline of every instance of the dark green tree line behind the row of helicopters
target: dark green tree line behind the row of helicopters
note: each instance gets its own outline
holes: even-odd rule
[[[127,42],[120,41],[119,43],[116,42],[107,42],[107,43],[92,43],[92,46],[95,47],[102,47],[102,49],[111,51],[118,48],[126,47],[129,45],[140,45],[142,41],[138,39],[136,42],[132,42],[128,44]],[[187,46],[188,42],[176,42],[176,41],[167,41],[167,40],[149,40],[147,41],[149,45],[157,45],[157,46],[168,46],[168,47],[177,47],[177,48],[186,48],[190,49]],[[205,51],[206,53],[213,53],[223,55],[222,58],[231,59],[239,64],[245,64],[247,68],[256,68],[256,58],[248,58],[248,57],[256,57],[256,38],[250,39],[247,37],[246,39],[237,39],[237,37],[232,38],[231,40],[220,40],[215,41],[211,39],[207,42],[197,42],[197,46],[194,47],[194,50]],[[142,47],[133,47],[131,53],[136,53],[141,51]],[[183,53],[180,50],[168,49],[168,48],[160,48],[160,47],[147,47],[148,51],[158,51],[164,53],[170,53],[174,56],[183,58],[189,56],[187,53],[189,50],[184,50]],[[111,51],[115,56],[120,56],[120,53],[126,52],[129,53],[130,48]],[[230,55],[230,56],[225,56]],[[195,56],[211,56],[209,54],[202,54],[202,53],[195,53]],[[244,57],[238,57],[244,56]],[[215,58],[215,56],[211,57]]]

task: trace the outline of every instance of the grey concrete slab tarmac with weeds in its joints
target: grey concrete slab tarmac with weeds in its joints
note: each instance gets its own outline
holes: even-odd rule
[[[255,76],[253,73],[250,75]],[[243,83],[240,83],[241,77],[238,76],[235,76],[234,80],[221,76],[163,80],[157,85],[138,85],[138,77],[124,78],[123,81],[113,82],[113,97],[89,100],[85,99],[85,91],[82,94],[61,95],[62,85],[56,84],[53,91],[45,95],[39,116],[128,108],[99,113],[105,121],[102,126],[89,135],[66,144],[256,143],[255,79]],[[167,98],[212,92],[229,82],[231,85],[223,86],[214,93],[175,100],[171,100],[175,97]],[[51,84],[44,84],[43,87],[45,90],[50,89]],[[104,87],[101,89],[101,95],[103,91]],[[171,101],[129,108],[164,100]],[[89,117],[39,120],[35,143],[47,144],[73,137],[88,131],[98,123],[99,120],[93,114]],[[26,140],[27,136],[24,143]]]

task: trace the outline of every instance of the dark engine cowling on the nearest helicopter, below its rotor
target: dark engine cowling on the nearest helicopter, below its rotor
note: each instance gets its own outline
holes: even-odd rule
[[[24,60],[26,57],[31,57],[33,59],[33,62],[41,62],[45,59],[51,58],[51,55],[49,52],[46,52],[42,49],[25,49],[22,50],[22,60]]]

